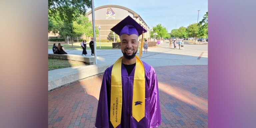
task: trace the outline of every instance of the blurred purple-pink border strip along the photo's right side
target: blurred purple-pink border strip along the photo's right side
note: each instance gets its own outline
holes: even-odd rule
[[[209,1],[208,126],[255,127],[255,1]]]

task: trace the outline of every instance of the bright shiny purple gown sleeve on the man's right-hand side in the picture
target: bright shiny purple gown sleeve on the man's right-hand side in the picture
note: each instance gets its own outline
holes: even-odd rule
[[[161,110],[160,110],[160,102],[159,102],[159,92],[158,92],[158,82],[156,73],[153,67],[150,68],[150,74],[151,74],[151,95],[150,95],[150,106],[151,106],[151,112],[150,112],[150,128],[158,127],[161,122]]]

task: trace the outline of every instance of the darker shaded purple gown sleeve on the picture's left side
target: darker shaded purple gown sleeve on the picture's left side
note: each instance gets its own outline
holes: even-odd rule
[[[95,121],[95,127],[97,128],[109,128],[108,100],[109,100],[110,78],[109,78],[108,69],[106,69],[106,71],[104,72],[101,89],[100,89],[98,109],[97,109],[96,121]]]

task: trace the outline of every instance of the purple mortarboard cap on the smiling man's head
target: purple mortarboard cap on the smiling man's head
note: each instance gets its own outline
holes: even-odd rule
[[[122,34],[136,34],[140,36],[142,33],[147,32],[140,24],[138,24],[133,18],[127,16],[122,21],[120,21],[116,26],[111,28],[113,32],[121,36]]]

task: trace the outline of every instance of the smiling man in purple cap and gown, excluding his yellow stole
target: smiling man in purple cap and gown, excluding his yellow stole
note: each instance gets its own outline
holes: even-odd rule
[[[112,29],[120,36],[120,46],[123,53],[121,65],[122,77],[122,112],[121,123],[117,128],[154,128],[161,124],[158,83],[155,70],[143,62],[145,69],[145,116],[137,122],[132,116],[133,81],[136,67],[136,52],[138,36],[146,30],[130,16],[119,22]],[[97,128],[113,128],[110,122],[111,72],[113,65],[105,70],[95,126]],[[136,104],[141,104],[136,102]]]

